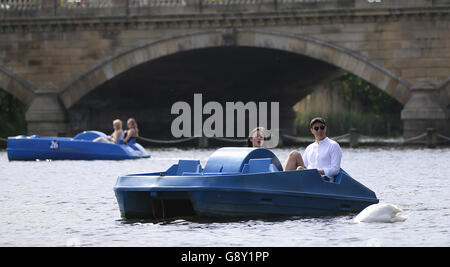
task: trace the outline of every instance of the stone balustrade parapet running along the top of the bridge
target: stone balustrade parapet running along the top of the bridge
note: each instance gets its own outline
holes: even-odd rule
[[[157,16],[449,7],[447,0],[2,0],[0,18]]]

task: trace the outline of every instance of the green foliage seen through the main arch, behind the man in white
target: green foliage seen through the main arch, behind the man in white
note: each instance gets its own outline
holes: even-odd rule
[[[336,82],[349,108],[328,113],[316,110],[299,113],[296,118],[298,135],[310,135],[309,122],[317,116],[327,121],[328,136],[348,133],[350,128],[369,136],[401,135],[402,106],[397,100],[351,73],[345,73]]]

